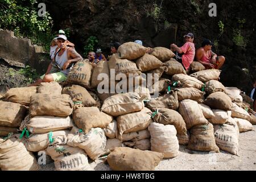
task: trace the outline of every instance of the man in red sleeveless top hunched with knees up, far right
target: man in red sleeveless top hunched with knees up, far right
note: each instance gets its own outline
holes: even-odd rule
[[[217,56],[212,52],[213,43],[206,39],[202,43],[202,47],[196,51],[196,60],[204,65],[206,69],[220,69],[225,63],[224,56]]]

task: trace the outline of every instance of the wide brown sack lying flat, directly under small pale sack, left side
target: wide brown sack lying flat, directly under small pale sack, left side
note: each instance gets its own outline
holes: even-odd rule
[[[37,93],[31,96],[30,116],[51,115],[68,117],[73,111],[73,101],[67,94],[52,96],[51,94]]]

